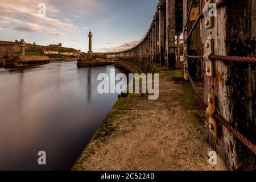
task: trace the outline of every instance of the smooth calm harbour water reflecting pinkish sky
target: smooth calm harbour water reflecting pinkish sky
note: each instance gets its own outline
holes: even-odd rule
[[[71,169],[117,101],[117,94],[97,92],[98,74],[111,68],[0,69],[0,170]],[[39,151],[46,166],[38,165]]]

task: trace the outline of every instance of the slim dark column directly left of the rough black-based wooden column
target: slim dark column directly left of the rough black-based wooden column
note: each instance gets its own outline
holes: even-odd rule
[[[164,52],[166,50],[166,1],[160,0],[159,10],[159,46],[160,46],[160,65],[164,65]]]

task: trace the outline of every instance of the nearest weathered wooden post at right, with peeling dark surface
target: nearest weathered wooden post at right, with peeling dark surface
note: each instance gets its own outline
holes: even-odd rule
[[[255,56],[256,1],[228,1],[217,9],[213,27],[202,23],[202,45],[210,38],[214,55]],[[203,18],[203,22],[204,22]],[[203,53],[205,53],[205,48]],[[208,94],[217,97],[217,110],[229,123],[256,144],[256,67],[255,64],[214,61],[214,76],[206,76],[203,61],[204,101]],[[208,127],[207,127],[208,129]],[[218,126],[218,143],[209,140],[214,150],[225,160],[229,169],[256,170],[256,155],[224,126]]]

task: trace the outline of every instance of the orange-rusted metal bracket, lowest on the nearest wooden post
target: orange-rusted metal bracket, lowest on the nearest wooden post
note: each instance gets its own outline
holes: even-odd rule
[[[218,138],[218,125],[217,121],[213,118],[214,114],[217,111],[217,97],[214,94],[209,93],[208,96],[208,107],[205,111],[207,117],[209,117],[209,129],[210,133],[214,135],[214,137]]]

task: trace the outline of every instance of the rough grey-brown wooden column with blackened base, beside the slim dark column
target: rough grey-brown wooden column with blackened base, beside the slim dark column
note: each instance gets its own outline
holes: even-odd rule
[[[176,68],[175,56],[175,0],[166,0],[167,13],[167,68]]]

